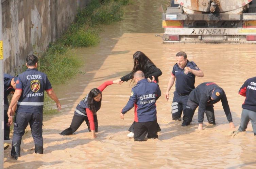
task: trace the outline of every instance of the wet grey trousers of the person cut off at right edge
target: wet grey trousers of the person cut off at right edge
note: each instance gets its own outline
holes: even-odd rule
[[[249,121],[251,120],[254,136],[256,135],[256,112],[250,111],[247,109],[242,110],[241,123],[238,128],[239,131],[245,131],[248,126]]]

